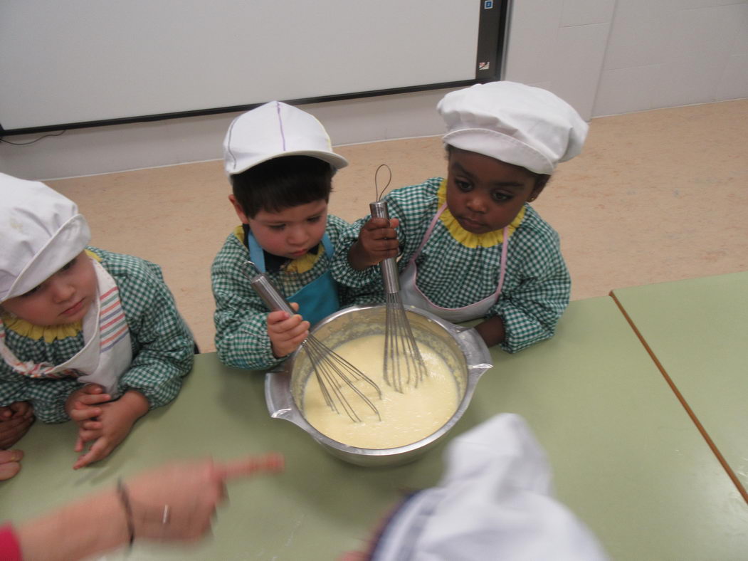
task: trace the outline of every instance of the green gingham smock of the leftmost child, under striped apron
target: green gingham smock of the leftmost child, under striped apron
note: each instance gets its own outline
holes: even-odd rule
[[[99,257],[99,263],[117,283],[130,331],[132,364],[120,377],[117,396],[127,390],[138,390],[146,396],[150,408],[166,405],[180,392],[182,377],[192,367],[194,341],[177,312],[161,268],[139,257],[86,249]],[[61,364],[84,345],[83,331],[51,343],[44,337],[34,340],[22,336],[12,328],[6,328],[5,334],[8,348],[21,361]],[[34,414],[44,423],[70,419],[65,412],[65,400],[79,387],[82,384],[76,378],[31,378],[18,374],[0,359],[0,405],[31,402]]]

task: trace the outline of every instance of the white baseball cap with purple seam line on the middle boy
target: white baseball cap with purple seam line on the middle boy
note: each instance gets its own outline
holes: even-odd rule
[[[279,156],[313,156],[345,168],[348,160],[332,151],[325,127],[312,115],[280,101],[268,102],[234,119],[224,138],[224,167],[240,174]]]

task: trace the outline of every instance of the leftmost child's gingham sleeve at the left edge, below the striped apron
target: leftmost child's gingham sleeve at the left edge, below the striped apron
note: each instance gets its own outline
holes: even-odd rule
[[[0,405],[27,401],[34,406],[34,415],[43,423],[64,423],[70,420],[65,401],[81,387],[76,378],[30,378],[13,372],[7,364],[0,365]]]

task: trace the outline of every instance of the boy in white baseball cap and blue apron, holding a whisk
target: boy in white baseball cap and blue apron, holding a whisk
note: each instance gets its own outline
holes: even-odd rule
[[[338,286],[329,272],[349,224],[328,215],[328,200],[332,177],[348,162],[332,151],[312,115],[273,101],[233,120],[224,165],[242,224],[211,270],[215,346],[224,364],[263,370],[295,351],[310,325],[355,303],[357,292]],[[269,313],[248,281],[254,269],[266,273],[299,313]]]

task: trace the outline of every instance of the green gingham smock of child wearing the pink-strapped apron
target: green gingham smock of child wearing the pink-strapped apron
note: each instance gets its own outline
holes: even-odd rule
[[[435,177],[420,185],[396,189],[384,197],[390,218],[400,220],[397,228],[400,272],[417,251],[441,206],[438,191],[443,181]],[[368,216],[361,218],[346,231],[345,239],[336,246],[331,272],[338,283],[356,288],[376,286],[381,291],[378,266],[356,271],[348,263],[349,248],[368,219]],[[416,259],[418,287],[440,307],[464,307],[486,298],[498,286],[501,246],[497,243],[491,247],[468,248],[438,220]],[[509,236],[501,295],[485,316],[503,318],[506,337],[502,349],[517,352],[552,337],[568,305],[570,292],[571,280],[558,234],[532,206],[525,204],[524,218]]]

